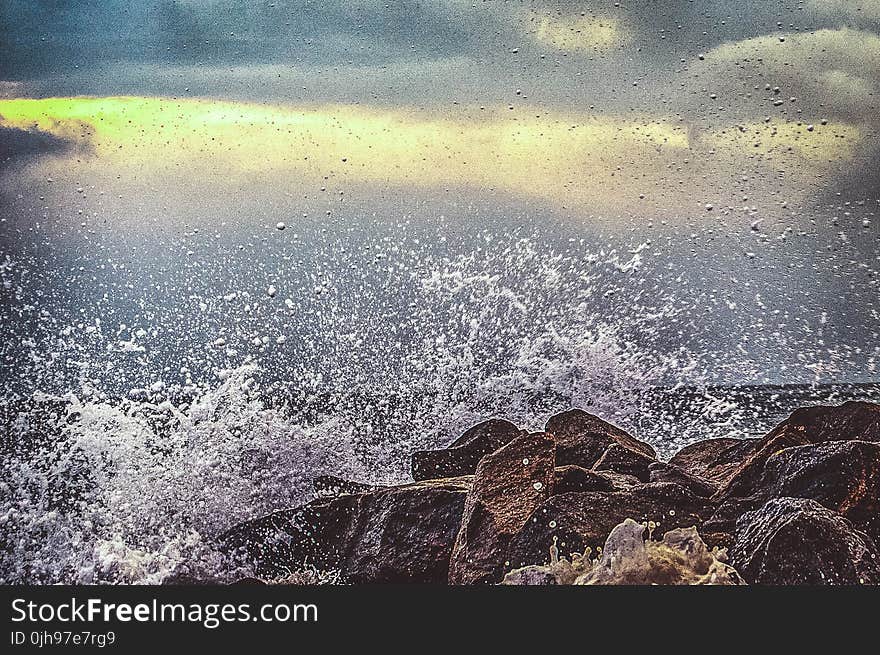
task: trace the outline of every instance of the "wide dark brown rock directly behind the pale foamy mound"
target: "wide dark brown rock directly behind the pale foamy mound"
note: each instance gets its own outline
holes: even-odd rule
[[[544,501],[512,539],[509,568],[545,564],[553,538],[560,557],[571,559],[595,548],[624,519],[654,521],[658,534],[677,527],[699,526],[712,514],[705,498],[677,484],[653,483],[625,491],[566,493]]]

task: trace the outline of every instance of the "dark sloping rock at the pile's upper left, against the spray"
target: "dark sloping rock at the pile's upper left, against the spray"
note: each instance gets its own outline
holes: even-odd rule
[[[412,455],[412,476],[416,481],[473,475],[480,459],[524,434],[510,421],[483,421],[443,450],[418,450]]]

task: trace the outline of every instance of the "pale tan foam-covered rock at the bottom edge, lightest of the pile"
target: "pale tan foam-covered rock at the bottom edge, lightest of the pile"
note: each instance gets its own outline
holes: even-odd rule
[[[626,519],[608,535],[599,558],[573,553],[569,561],[551,550],[549,564],[515,569],[502,584],[743,584],[725,563],[726,553],[709,551],[695,528],[670,530],[660,542],[646,541],[644,533],[644,525]]]

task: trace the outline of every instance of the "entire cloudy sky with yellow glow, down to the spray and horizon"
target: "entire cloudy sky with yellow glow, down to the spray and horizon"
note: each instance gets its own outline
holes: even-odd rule
[[[517,234],[637,257],[609,285],[673,299],[632,322],[683,303],[666,348],[722,379],[875,379],[878,92],[880,0],[0,0],[0,254],[122,316],[111,260],[223,296],[209,257],[263,286],[357,266],[352,230],[446,268]]]

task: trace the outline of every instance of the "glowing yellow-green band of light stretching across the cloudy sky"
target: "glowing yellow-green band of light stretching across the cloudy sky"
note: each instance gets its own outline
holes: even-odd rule
[[[152,97],[0,100],[0,125],[63,138],[120,170],[213,172],[233,182],[271,174],[292,190],[333,175],[341,184],[490,189],[585,211],[676,211],[716,201],[707,167],[717,176],[745,165],[796,164],[791,177],[809,183],[852,159],[860,140],[859,129],[846,124],[700,133],[672,120],[528,108],[439,112]]]

